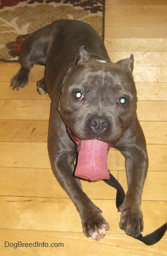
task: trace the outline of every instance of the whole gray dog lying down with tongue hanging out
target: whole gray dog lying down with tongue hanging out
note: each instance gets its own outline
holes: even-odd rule
[[[34,63],[45,65],[37,89],[40,94],[48,92],[52,100],[52,171],[79,211],[84,234],[99,240],[109,224],[82,190],[79,178],[109,179],[107,153],[114,146],[125,156],[128,183],[119,225],[137,237],[143,230],[140,203],[148,160],[136,115],[133,55],[112,63],[90,25],[60,20],[32,33],[22,45],[19,61],[21,68],[11,79],[13,89],[27,85]]]

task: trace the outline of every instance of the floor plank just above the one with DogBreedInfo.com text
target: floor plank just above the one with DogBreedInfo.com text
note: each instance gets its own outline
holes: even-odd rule
[[[93,199],[93,202],[103,211],[104,218],[111,224],[111,231],[108,233],[124,234],[119,228],[120,212],[115,207],[115,200]],[[0,196],[0,204],[1,228],[82,232],[79,213],[70,199]],[[143,200],[141,208],[145,222],[144,234],[154,231],[166,220],[165,201],[150,203]],[[68,222],[65,221],[67,217]]]

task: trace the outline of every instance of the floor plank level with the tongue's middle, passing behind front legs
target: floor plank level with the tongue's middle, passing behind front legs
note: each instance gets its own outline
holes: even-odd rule
[[[167,145],[147,145],[149,170],[167,169]],[[50,168],[47,143],[0,142],[0,167]],[[116,149],[108,153],[108,168],[124,170],[124,157]]]

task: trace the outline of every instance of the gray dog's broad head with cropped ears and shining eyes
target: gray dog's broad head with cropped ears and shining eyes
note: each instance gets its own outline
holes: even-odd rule
[[[79,140],[98,139],[111,145],[123,136],[136,117],[133,62],[133,55],[112,63],[80,47],[59,100],[69,133]]]

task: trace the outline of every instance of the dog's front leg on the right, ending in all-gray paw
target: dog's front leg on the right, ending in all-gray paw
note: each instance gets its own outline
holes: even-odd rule
[[[125,167],[128,190],[123,204],[119,207],[121,211],[120,228],[125,233],[137,237],[143,231],[143,214],[140,209],[143,186],[146,178],[148,159],[146,142],[141,127],[136,122],[132,134],[131,128],[126,132],[126,142],[121,142],[116,147],[125,156]],[[124,138],[125,139],[125,138]]]

